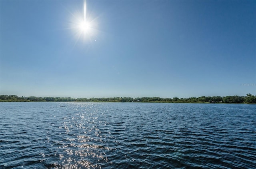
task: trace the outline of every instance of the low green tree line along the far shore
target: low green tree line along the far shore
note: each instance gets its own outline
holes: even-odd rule
[[[160,98],[160,97],[103,97],[103,98],[71,98],[71,97],[19,97],[17,95],[0,95],[4,101],[86,101],[86,102],[161,102],[161,103],[256,103],[256,95],[246,96],[201,96],[189,98]]]

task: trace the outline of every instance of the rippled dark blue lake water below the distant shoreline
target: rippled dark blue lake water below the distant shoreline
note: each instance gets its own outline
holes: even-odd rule
[[[0,168],[256,168],[256,105],[0,103]]]

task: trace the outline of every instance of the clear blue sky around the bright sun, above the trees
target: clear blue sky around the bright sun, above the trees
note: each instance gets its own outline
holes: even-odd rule
[[[86,34],[83,4],[0,1],[0,94],[256,94],[256,1],[87,1]]]

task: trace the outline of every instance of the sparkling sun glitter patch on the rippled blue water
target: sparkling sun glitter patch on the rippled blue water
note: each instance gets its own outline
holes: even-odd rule
[[[98,121],[97,113],[87,113],[86,107],[82,108],[85,110],[76,109],[74,115],[62,118],[63,125],[58,127],[59,131],[64,131],[60,132],[62,141],[48,138],[49,142],[59,144],[54,153],[59,159],[54,164],[56,169],[101,168],[102,163],[108,163],[107,152],[112,148],[104,145],[106,141],[102,139],[108,136],[102,134],[98,126],[106,126],[106,123]]]

